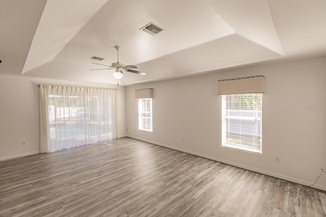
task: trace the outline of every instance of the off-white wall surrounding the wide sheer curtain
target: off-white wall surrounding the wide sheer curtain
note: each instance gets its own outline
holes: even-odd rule
[[[118,89],[118,133],[126,135],[125,87],[0,75],[0,161],[39,153],[37,84]]]

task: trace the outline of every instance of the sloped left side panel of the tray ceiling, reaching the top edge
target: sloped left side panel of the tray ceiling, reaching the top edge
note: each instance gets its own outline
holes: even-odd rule
[[[107,0],[48,0],[22,73],[51,61]]]

